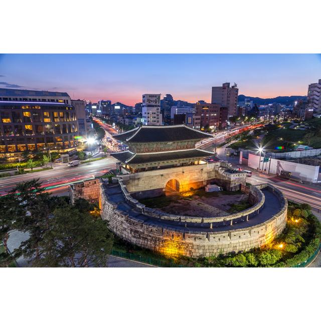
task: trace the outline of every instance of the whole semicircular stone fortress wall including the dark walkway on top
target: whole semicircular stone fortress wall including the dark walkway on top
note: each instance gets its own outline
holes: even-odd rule
[[[121,180],[116,187],[110,187],[104,182],[100,185],[101,217],[108,221],[110,229],[120,238],[166,255],[202,257],[222,252],[247,251],[271,242],[286,226],[287,201],[283,194],[271,185],[260,187],[279,204],[276,213],[271,213],[268,219],[259,224],[255,222],[263,217],[260,210],[268,204],[265,204],[264,195],[257,188],[252,191],[258,203],[247,210],[250,213],[245,215],[243,211],[233,214],[229,220],[232,224],[223,218],[221,222],[225,224],[215,227],[214,221],[205,222],[205,218],[201,222],[184,222],[184,216],[174,218],[173,215],[163,213],[166,217],[159,217],[159,213],[146,209],[132,198]],[[265,209],[265,216],[266,212]],[[234,219],[237,219],[235,223]],[[251,225],[251,222],[252,226],[237,228],[242,224]]]

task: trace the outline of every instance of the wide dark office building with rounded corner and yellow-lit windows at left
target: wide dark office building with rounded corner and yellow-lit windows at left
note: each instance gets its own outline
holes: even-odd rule
[[[47,146],[69,150],[77,145],[78,121],[67,93],[46,92],[46,96],[43,91],[0,89],[0,92],[3,157],[12,160],[25,150],[43,150]]]

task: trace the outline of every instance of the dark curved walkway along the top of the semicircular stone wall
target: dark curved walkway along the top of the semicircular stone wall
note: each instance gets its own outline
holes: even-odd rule
[[[106,185],[105,187],[105,192],[107,193],[109,199],[117,204],[117,208],[119,210],[128,213],[130,217],[139,219],[145,224],[153,224],[156,226],[162,226],[173,230],[180,229],[186,232],[218,232],[247,228],[267,221],[268,219],[272,218],[275,214],[277,214],[281,209],[281,204],[277,196],[270,192],[268,189],[264,189],[262,190],[262,192],[265,196],[265,202],[263,209],[260,210],[258,215],[249,218],[248,221],[246,221],[245,218],[242,218],[242,220],[244,221],[241,221],[241,219],[239,219],[239,222],[235,220],[236,223],[234,223],[233,220],[233,225],[227,223],[227,225],[217,226],[211,229],[210,223],[185,223],[170,220],[160,220],[147,216],[138,212],[136,208],[125,202],[119,185],[115,185],[112,187]]]

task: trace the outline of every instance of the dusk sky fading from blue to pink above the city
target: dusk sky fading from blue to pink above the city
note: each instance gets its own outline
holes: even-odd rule
[[[0,88],[67,92],[72,99],[134,105],[144,93],[211,102],[212,86],[239,94],[306,95],[321,78],[316,54],[3,54]]]

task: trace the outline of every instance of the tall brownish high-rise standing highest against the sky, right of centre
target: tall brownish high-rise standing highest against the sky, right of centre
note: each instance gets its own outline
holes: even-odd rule
[[[219,87],[212,87],[212,104],[227,107],[228,116],[235,116],[238,93],[237,85],[230,86],[229,82]]]

